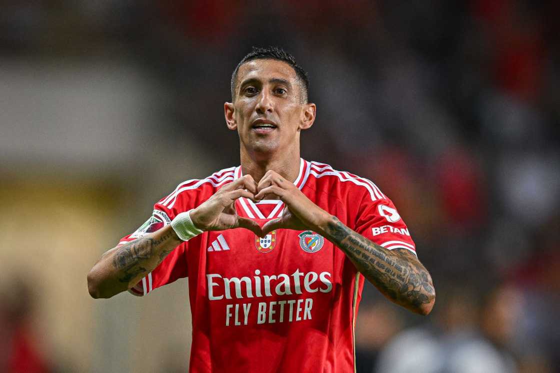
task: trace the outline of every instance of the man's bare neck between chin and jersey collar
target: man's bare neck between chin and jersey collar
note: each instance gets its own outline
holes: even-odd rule
[[[300,152],[283,153],[282,157],[251,157],[246,152],[241,152],[241,171],[244,175],[250,174],[258,183],[269,169],[278,172],[286,180],[294,182],[300,173]]]

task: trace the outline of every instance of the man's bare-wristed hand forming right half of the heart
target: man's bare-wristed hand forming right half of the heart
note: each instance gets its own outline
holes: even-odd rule
[[[323,227],[330,214],[315,205],[292,182],[272,170],[267,171],[257,186],[256,200],[265,196],[278,196],[286,204],[280,218],[267,221],[262,228],[262,237],[275,229],[312,230],[323,234]]]

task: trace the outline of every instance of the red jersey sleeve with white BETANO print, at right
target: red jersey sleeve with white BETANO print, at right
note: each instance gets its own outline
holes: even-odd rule
[[[402,248],[416,255],[416,244],[393,201],[382,194],[380,197],[363,197],[354,230],[386,249]]]

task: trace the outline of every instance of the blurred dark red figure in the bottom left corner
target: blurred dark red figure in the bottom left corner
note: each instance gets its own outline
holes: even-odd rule
[[[45,373],[51,371],[38,348],[30,316],[34,300],[30,286],[21,280],[0,290],[0,371]]]

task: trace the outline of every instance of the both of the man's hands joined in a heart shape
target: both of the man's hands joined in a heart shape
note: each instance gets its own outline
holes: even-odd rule
[[[280,218],[268,221],[261,228],[256,221],[237,215],[234,204],[240,197],[256,202],[271,195],[279,197],[286,204]],[[194,209],[190,216],[194,225],[202,230],[245,228],[260,237],[281,228],[309,229],[321,234],[321,227],[330,218],[325,210],[311,202],[293,183],[272,170],[264,174],[258,185],[250,175],[229,183]]]

